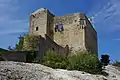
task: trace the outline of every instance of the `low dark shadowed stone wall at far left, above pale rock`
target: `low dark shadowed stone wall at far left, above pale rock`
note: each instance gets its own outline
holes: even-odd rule
[[[4,51],[0,55],[0,61],[32,62],[37,52],[31,53],[31,51]]]

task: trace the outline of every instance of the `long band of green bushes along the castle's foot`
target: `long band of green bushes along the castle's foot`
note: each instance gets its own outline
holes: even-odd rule
[[[48,51],[43,59],[43,64],[52,68],[80,70],[89,73],[102,71],[101,62],[96,54],[79,52],[68,57]]]

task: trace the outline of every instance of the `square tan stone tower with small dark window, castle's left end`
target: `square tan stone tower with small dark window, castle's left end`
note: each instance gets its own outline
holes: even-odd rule
[[[38,9],[30,15],[30,35],[41,35],[45,37],[47,34],[53,39],[53,22],[54,15],[46,8]]]

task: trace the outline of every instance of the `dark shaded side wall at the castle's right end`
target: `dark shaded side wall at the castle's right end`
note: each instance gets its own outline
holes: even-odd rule
[[[97,45],[97,32],[93,28],[90,21],[86,18],[86,28],[85,28],[85,46],[88,51],[98,53]]]

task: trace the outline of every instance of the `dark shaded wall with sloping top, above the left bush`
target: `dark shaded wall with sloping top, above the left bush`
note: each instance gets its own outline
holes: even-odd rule
[[[65,47],[62,47],[55,43],[51,38],[49,38],[47,35],[45,35],[45,38],[41,37],[40,39],[40,46],[39,46],[39,57],[43,58],[46,51],[52,50],[57,52],[58,54],[67,56],[69,53],[69,46],[66,45]]]

